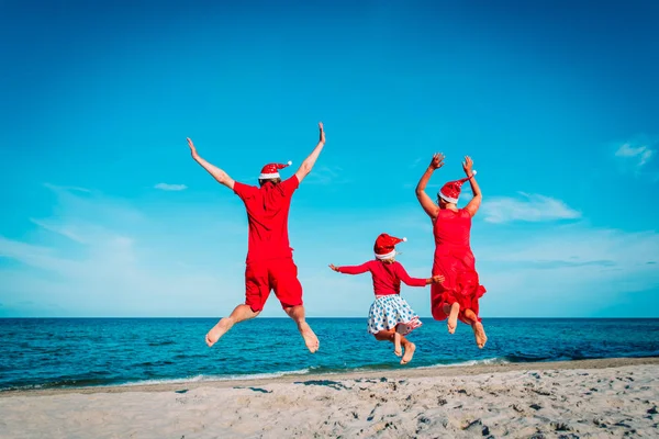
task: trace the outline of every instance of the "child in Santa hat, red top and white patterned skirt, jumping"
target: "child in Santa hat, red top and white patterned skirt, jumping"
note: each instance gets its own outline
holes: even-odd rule
[[[376,239],[373,247],[376,259],[360,266],[335,267],[330,264],[334,271],[344,274],[361,274],[370,271],[373,278],[373,290],[376,301],[372,303],[368,316],[368,331],[377,340],[393,342],[393,352],[401,357],[402,348],[405,354],[401,364],[412,361],[416,346],[404,336],[422,325],[418,316],[410,307],[407,302],[401,297],[401,281],[410,286],[425,286],[431,283],[444,282],[443,275],[428,279],[411,278],[403,266],[395,261],[395,245],[407,240],[396,238],[388,234],[381,234]]]

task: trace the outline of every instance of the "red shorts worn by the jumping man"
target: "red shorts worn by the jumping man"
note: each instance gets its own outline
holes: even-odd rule
[[[298,267],[292,258],[247,263],[245,304],[255,313],[261,311],[271,290],[275,290],[281,307],[302,305],[302,284],[298,280]]]

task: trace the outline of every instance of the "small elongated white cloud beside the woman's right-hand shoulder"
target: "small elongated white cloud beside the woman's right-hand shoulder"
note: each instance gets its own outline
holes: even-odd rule
[[[489,223],[574,219],[581,213],[550,196],[520,192],[521,198],[499,196],[483,202],[481,212]]]

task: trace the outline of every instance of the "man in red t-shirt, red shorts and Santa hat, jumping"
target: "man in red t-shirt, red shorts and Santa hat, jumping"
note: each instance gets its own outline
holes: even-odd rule
[[[288,237],[288,216],[293,192],[311,172],[325,146],[323,124],[319,123],[320,140],[293,177],[281,180],[279,169],[291,165],[269,164],[261,169],[259,188],[233,180],[222,169],[209,164],[197,153],[192,140],[188,145],[192,158],[217,182],[233,190],[245,203],[249,223],[249,241],[245,269],[245,304],[235,307],[228,317],[222,318],[205,336],[209,347],[226,334],[236,323],[256,317],[264,308],[270,291],[283,311],[298,324],[306,348],[319,350],[319,339],[304,319],[302,285],[298,280],[298,267],[293,262]]]

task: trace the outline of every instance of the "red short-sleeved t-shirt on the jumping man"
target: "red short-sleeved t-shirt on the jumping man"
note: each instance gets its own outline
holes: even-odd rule
[[[261,188],[234,183],[234,192],[245,203],[249,222],[247,263],[293,256],[288,237],[288,214],[299,185],[298,176]]]

